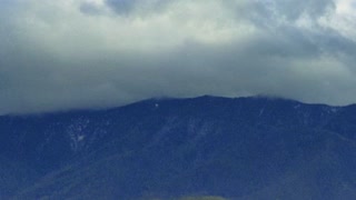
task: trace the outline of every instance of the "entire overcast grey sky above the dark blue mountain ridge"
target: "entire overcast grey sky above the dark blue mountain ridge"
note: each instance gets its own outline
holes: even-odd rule
[[[0,114],[201,94],[356,102],[355,0],[0,3]]]

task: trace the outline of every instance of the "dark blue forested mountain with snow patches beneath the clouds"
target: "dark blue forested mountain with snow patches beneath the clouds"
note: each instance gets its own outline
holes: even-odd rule
[[[0,117],[11,198],[356,199],[356,107],[200,97]]]

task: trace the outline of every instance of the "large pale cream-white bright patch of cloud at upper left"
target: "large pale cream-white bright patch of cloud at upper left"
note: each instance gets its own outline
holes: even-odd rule
[[[95,3],[103,12],[82,13],[82,3]],[[190,41],[219,44],[246,40],[256,31],[254,24],[235,19],[233,11],[216,0],[177,1],[159,13],[138,10],[123,17],[98,0],[31,0],[21,9],[17,21],[21,37],[60,54],[164,51]]]

